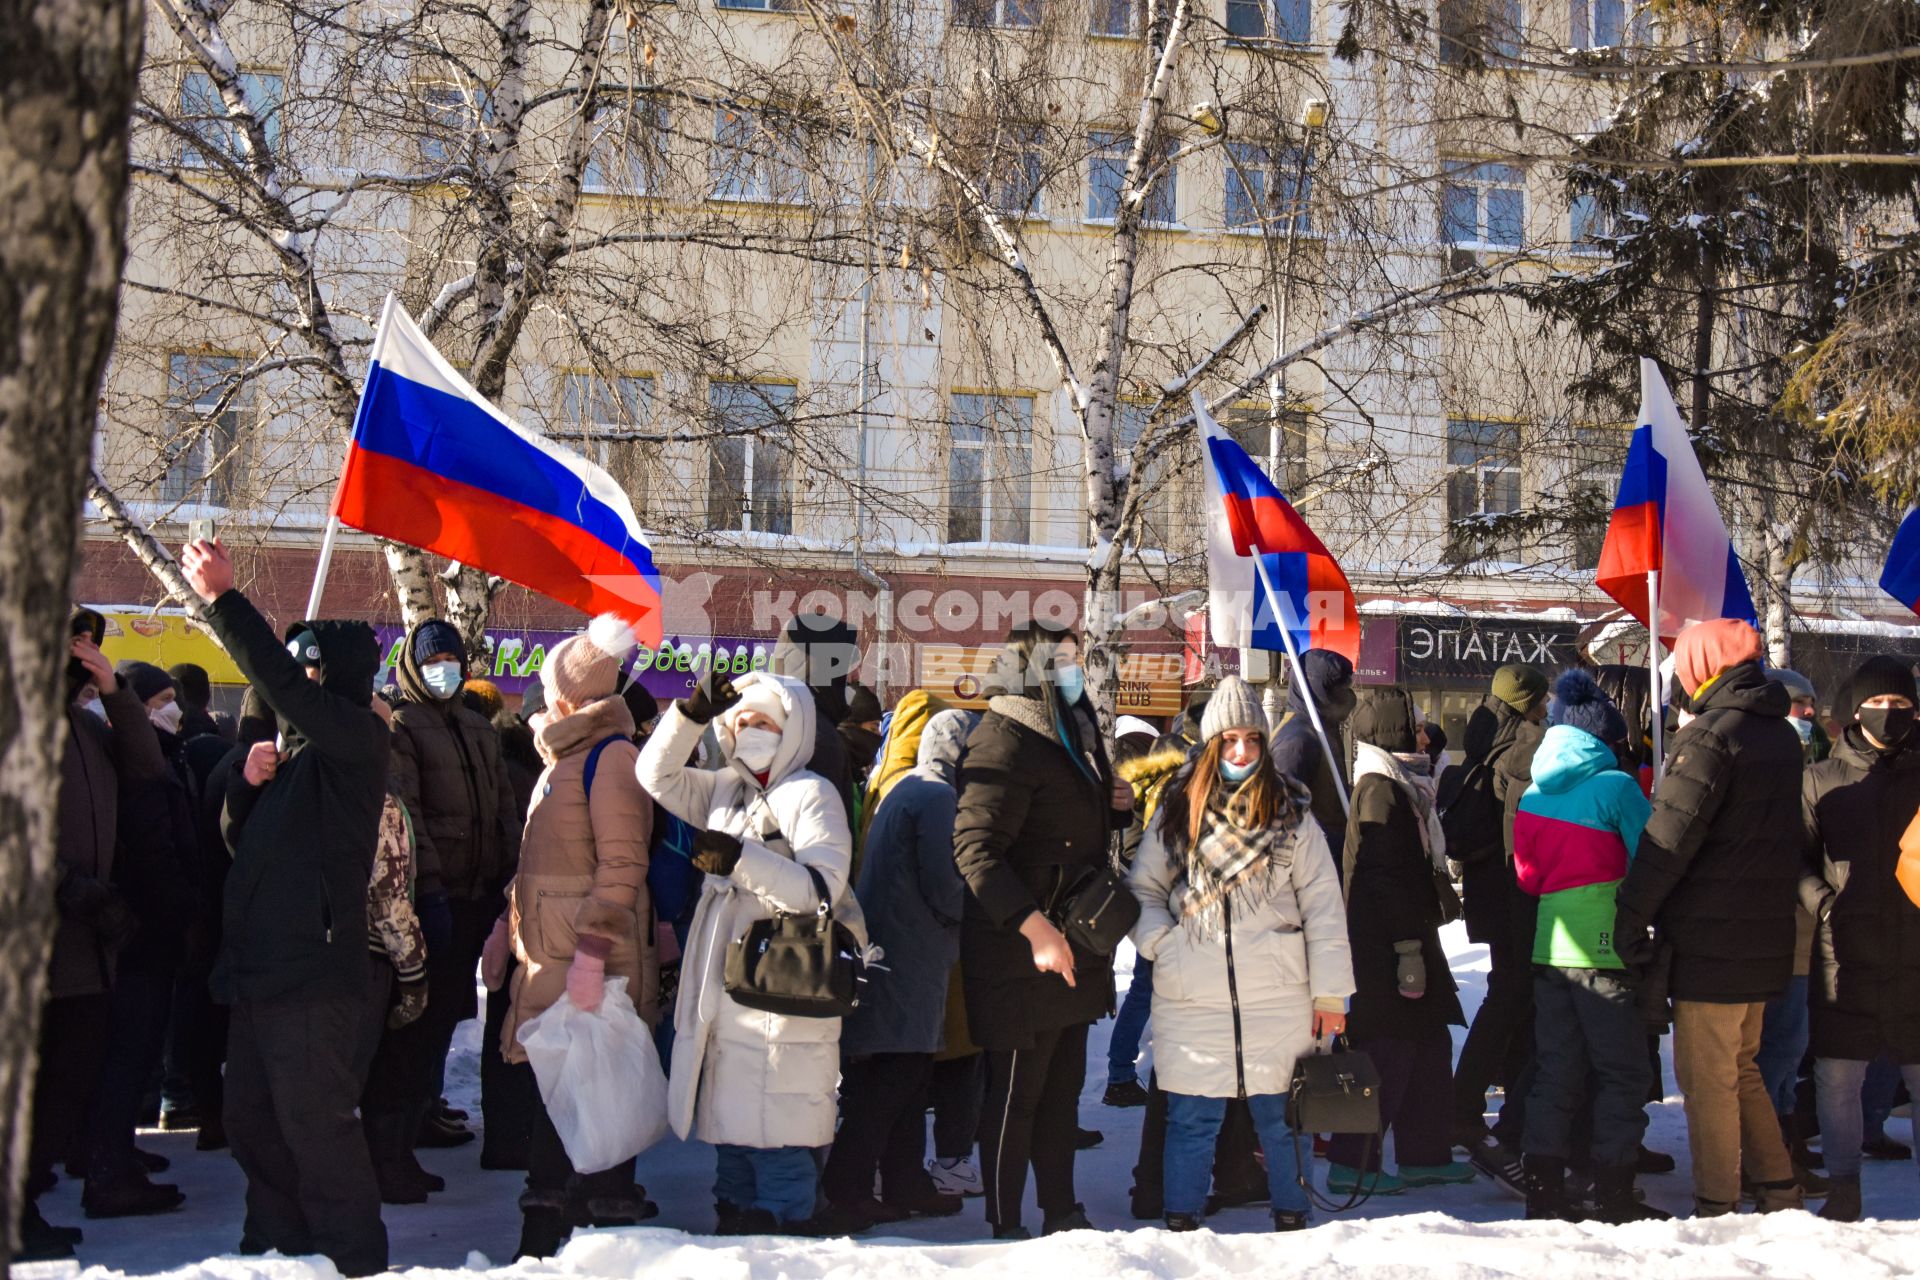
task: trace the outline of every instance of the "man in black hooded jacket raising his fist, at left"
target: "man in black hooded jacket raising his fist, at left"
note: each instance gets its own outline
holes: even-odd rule
[[[248,1178],[242,1253],[324,1253],[386,1270],[380,1190],[361,1134],[367,879],[386,802],[388,731],[369,706],[380,651],[363,622],[301,622],[288,643],[234,589],[219,543],[180,557],[242,676],[280,718],[227,791],[225,936],[232,1004],[227,1136]]]

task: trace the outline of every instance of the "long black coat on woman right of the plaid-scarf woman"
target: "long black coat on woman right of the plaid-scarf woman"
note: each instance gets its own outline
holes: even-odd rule
[[[1461,1027],[1459,986],[1440,946],[1432,864],[1421,844],[1413,798],[1390,777],[1354,783],[1354,823],[1340,858],[1346,883],[1346,938],[1354,950],[1354,1036],[1415,1038]],[[1394,942],[1419,938],[1427,994],[1400,994]]]

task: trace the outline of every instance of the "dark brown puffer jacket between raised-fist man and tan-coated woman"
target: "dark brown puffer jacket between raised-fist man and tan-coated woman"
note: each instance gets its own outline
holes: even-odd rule
[[[396,666],[394,783],[413,816],[417,885],[420,892],[490,898],[520,862],[518,806],[499,729],[459,695],[436,699],[428,691],[413,660],[415,629]]]

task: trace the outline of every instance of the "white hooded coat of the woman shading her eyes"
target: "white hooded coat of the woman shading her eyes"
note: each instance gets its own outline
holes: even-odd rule
[[[637,766],[639,785],[670,814],[741,841],[732,875],[707,877],[687,927],[666,1113],[682,1138],[818,1148],[833,1140],[841,1019],[783,1017],[735,1004],[724,990],[726,952],[756,919],[818,910],[806,867],[828,883],[835,915],[864,942],[849,912],[852,839],[839,796],[803,768],[814,750],[814,699],[806,685],[766,672],[733,683],[741,691],[772,683],[787,712],[764,789],[732,764],[733,731],[726,716],[716,718],[714,735],[730,764],[718,771],[687,768],[705,725],[687,720],[678,704],[660,716]]]

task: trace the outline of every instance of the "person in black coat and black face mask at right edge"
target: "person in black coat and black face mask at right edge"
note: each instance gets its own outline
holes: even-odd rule
[[[1832,754],[1807,770],[1801,904],[1814,917],[1812,1052],[1820,1148],[1834,1184],[1822,1219],[1860,1219],[1860,1084],[1891,1055],[1920,1098],[1920,881],[1899,879],[1920,844],[1920,735],[1912,668],[1868,658],[1839,708]]]

